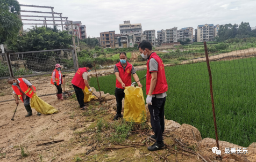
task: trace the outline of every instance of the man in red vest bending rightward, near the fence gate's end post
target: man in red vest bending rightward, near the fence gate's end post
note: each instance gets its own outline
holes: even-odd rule
[[[88,72],[90,72],[92,68],[93,68],[93,65],[91,64],[87,64],[86,67],[79,68],[79,70],[76,71],[75,76],[71,81],[72,86],[75,89],[76,99],[80,105],[81,110],[86,109],[83,102],[84,94],[82,89],[87,87],[89,91],[91,91],[91,88],[87,81],[87,77],[88,77]]]

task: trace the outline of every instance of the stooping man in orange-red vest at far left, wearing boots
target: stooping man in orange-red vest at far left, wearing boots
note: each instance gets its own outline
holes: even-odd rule
[[[32,98],[33,94],[35,94],[35,87],[24,78],[9,78],[8,83],[12,85],[13,94],[15,94],[16,104],[19,104],[19,98],[24,103],[27,114],[25,117],[29,117],[32,115],[32,109],[30,106],[30,98]],[[37,112],[37,115],[41,115],[41,113]]]

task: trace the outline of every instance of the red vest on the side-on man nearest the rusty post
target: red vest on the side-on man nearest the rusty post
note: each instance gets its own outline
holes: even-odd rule
[[[154,58],[158,62],[158,71],[155,71],[158,73],[158,79],[157,84],[155,84],[155,89],[152,92],[152,95],[155,94],[162,94],[163,92],[166,92],[168,90],[168,85],[166,81],[165,76],[165,66],[163,66],[163,62],[161,58],[157,55],[157,53],[153,52],[150,55],[150,59]],[[150,82],[151,82],[151,73],[150,73],[150,59],[147,60],[147,80],[146,80],[146,94],[148,94],[148,91],[150,91]],[[154,71],[151,71],[154,72]]]

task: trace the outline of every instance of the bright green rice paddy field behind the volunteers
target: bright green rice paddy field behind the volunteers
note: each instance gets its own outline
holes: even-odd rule
[[[210,66],[219,140],[247,147],[256,142],[256,58],[211,61]],[[202,138],[215,138],[207,64],[168,66],[165,72],[166,119],[193,125]],[[137,74],[143,78],[146,71]],[[101,90],[115,95],[115,75],[98,80]],[[89,84],[98,90],[96,78]],[[141,84],[146,98],[145,79]]]

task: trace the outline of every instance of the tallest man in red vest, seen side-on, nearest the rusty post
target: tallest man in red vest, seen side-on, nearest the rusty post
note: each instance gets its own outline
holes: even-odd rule
[[[147,59],[147,75],[146,75],[146,102],[150,111],[151,126],[155,135],[155,142],[147,149],[155,151],[165,148],[162,133],[165,131],[165,101],[166,91],[168,89],[165,66],[157,53],[152,51],[152,45],[149,41],[141,41],[139,44],[141,57]]]

